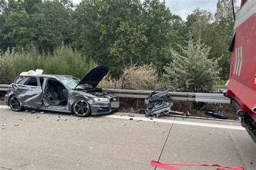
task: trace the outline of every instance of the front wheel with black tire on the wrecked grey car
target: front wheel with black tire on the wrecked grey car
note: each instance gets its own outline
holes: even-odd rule
[[[91,107],[84,99],[75,101],[72,110],[73,113],[79,117],[87,117],[91,115]]]

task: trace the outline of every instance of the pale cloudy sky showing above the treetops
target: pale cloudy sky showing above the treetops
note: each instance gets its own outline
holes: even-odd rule
[[[72,0],[75,4],[81,0]],[[120,0],[122,1],[122,0]],[[218,0],[165,0],[166,6],[173,14],[179,15],[182,19],[186,20],[188,14],[192,13],[194,9],[199,7],[203,10],[210,10],[215,12]],[[241,0],[237,4],[240,6]]]

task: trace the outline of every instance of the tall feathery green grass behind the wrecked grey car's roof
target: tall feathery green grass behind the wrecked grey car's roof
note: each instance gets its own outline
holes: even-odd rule
[[[57,47],[53,53],[31,48],[29,51],[7,51],[0,54],[0,84],[11,83],[29,70],[43,69],[43,74],[72,75],[81,78],[95,63],[69,46]]]

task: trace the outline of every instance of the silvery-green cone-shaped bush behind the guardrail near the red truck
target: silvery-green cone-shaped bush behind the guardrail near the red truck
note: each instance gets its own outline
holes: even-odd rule
[[[207,58],[210,47],[201,44],[200,40],[193,41],[190,38],[182,52],[183,55],[172,52],[173,61],[164,67],[166,73],[163,83],[183,91],[201,92],[212,89],[219,80],[221,69],[218,60]]]

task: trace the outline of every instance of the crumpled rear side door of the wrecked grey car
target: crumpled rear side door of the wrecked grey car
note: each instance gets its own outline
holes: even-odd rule
[[[42,107],[42,87],[39,77],[30,77],[25,84],[12,84],[14,95],[23,107]]]

